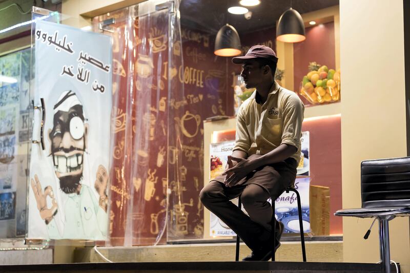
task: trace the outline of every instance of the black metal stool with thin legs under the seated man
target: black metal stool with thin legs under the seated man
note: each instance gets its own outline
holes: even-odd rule
[[[302,257],[303,257],[303,262],[306,262],[306,249],[304,246],[304,234],[303,234],[303,223],[302,223],[302,204],[300,202],[300,195],[299,192],[296,190],[296,188],[294,187],[288,187],[285,190],[286,193],[289,192],[294,192],[296,194],[297,197],[297,202],[298,202],[298,214],[299,214],[299,229],[300,229],[300,241],[301,241],[301,245],[302,245]],[[241,209],[242,207],[242,203],[240,201],[240,196],[239,196],[239,200],[238,200],[238,207],[239,209]],[[271,220],[271,224],[272,224],[272,231],[274,233],[274,230],[276,228],[276,221],[275,221],[275,200],[272,200],[272,220]],[[235,255],[235,261],[239,261],[239,236],[236,235],[236,255]],[[275,247],[276,247],[276,240],[275,240],[275,236],[272,236],[272,262],[275,261]]]

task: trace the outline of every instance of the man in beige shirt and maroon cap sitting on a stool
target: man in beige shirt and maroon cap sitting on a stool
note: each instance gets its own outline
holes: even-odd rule
[[[270,259],[272,208],[267,200],[276,200],[294,183],[300,160],[304,106],[296,93],[275,82],[277,60],[265,46],[232,59],[242,64],[246,87],[256,91],[238,110],[235,148],[225,172],[200,193],[203,205],[251,248],[243,261]],[[230,201],[238,196],[249,216]],[[283,224],[277,222],[277,248],[282,232]]]

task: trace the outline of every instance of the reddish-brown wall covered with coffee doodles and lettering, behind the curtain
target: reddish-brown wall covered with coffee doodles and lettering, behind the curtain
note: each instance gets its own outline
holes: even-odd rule
[[[183,58],[183,65],[170,65],[167,16],[133,18],[132,28],[127,9],[110,16],[117,17],[116,31],[111,34],[110,244],[200,239],[202,122],[216,115],[233,115],[232,78],[241,67],[233,65],[231,58],[214,55],[215,35],[185,26],[181,27],[182,43],[173,41],[171,50],[173,57]],[[243,35],[243,53],[254,44],[275,48],[274,37],[274,28]]]

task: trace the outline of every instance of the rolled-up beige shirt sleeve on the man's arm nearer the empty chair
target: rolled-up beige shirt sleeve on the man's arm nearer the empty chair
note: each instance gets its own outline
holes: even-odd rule
[[[281,144],[293,145],[300,151],[304,106],[297,96],[289,97],[285,103]]]

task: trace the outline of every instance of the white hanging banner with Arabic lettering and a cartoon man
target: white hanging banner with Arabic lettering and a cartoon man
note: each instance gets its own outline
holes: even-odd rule
[[[34,38],[34,103],[44,108],[34,110],[27,237],[105,240],[111,38],[43,21]]]

